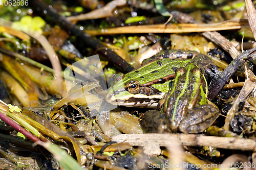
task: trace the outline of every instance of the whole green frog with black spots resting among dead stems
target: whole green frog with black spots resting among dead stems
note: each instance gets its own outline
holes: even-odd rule
[[[152,133],[200,133],[218,118],[218,108],[207,101],[204,74],[215,67],[203,54],[189,53],[193,59],[172,59],[159,55],[126,75],[117,74],[106,101],[127,107],[158,107],[142,117],[143,130]],[[173,51],[172,51],[173,53]],[[177,56],[175,56],[177,57]],[[182,58],[182,57],[181,57]],[[159,60],[160,59],[160,60]],[[161,101],[160,101],[161,100]]]

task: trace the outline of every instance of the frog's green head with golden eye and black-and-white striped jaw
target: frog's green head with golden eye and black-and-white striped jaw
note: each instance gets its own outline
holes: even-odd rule
[[[158,89],[131,79],[130,74],[118,73],[114,83],[106,93],[108,103],[126,107],[152,107],[155,108],[164,93]]]

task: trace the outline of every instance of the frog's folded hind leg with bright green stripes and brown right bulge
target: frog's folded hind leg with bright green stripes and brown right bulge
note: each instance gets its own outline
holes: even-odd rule
[[[173,132],[200,133],[215,122],[218,108],[207,103],[206,89],[206,80],[196,65],[188,64],[176,71],[161,109]]]

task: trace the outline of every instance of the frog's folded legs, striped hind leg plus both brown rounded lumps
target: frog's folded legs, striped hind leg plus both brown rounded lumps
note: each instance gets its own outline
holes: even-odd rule
[[[176,78],[165,97],[161,111],[147,111],[143,130],[150,133],[201,133],[218,118],[218,108],[207,101],[207,83],[203,74],[212,66],[205,55],[197,55],[185,67],[176,70]],[[161,103],[161,102],[160,102]]]

